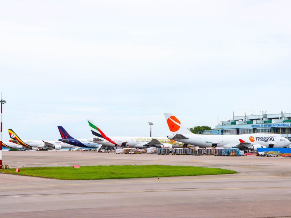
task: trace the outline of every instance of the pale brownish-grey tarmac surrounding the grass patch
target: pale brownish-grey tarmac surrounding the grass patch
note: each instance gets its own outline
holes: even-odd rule
[[[3,164],[190,165],[238,173],[120,180],[1,173],[1,217],[291,217],[291,158],[4,151]]]

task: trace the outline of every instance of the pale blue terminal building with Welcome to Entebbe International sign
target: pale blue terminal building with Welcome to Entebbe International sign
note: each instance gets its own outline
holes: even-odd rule
[[[238,135],[250,133],[276,133],[291,139],[291,113],[234,116],[222,121],[203,134]]]

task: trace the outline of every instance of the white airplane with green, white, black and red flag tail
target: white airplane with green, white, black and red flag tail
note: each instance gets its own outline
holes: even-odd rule
[[[102,144],[109,147],[130,147],[130,148],[148,148],[148,147],[168,147],[178,148],[183,147],[184,143],[176,142],[166,137],[122,137],[112,136],[107,137],[92,120],[88,120],[94,138],[88,138],[88,141]]]

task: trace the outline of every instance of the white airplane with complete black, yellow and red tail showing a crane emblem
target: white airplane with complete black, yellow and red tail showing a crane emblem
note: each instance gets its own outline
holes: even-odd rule
[[[19,146],[26,147],[26,150],[34,150],[33,148],[42,148],[47,150],[60,150],[62,148],[72,148],[75,146],[66,144],[60,141],[40,141],[40,140],[21,140],[20,137],[12,130],[8,129],[8,133],[10,136],[10,142],[18,144]]]

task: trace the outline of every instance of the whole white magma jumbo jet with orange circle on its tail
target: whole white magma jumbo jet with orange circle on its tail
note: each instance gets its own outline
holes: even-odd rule
[[[243,135],[197,135],[190,132],[173,115],[164,113],[171,131],[167,137],[171,140],[199,147],[239,148],[241,150],[257,150],[262,147],[286,147],[290,141],[280,134],[243,134]]]

